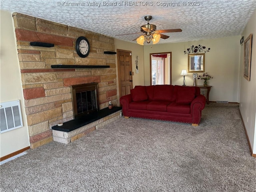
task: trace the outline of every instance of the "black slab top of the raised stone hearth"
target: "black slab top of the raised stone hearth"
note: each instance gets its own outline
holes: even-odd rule
[[[72,130],[75,130],[82,126],[85,126],[89,123],[92,123],[96,120],[99,120],[103,117],[106,117],[112,113],[115,113],[121,109],[122,109],[122,107],[113,107],[112,109],[104,108],[104,109],[94,112],[92,114],[88,114],[88,115],[82,116],[80,118],[73,119],[68,122],[64,122],[62,126],[58,126],[58,125],[52,126],[52,130],[70,132]]]

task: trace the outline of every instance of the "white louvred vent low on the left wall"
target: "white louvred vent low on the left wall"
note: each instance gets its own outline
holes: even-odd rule
[[[23,126],[20,101],[0,103],[0,133]]]

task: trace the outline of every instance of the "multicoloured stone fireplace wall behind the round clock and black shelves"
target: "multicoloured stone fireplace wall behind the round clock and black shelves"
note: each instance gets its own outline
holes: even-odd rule
[[[13,19],[30,148],[51,142],[52,126],[74,119],[71,85],[97,82],[100,109],[109,101],[116,106],[116,58],[104,54],[115,50],[113,38],[20,13],[14,13]],[[80,58],[74,48],[79,36],[90,42],[86,58]],[[34,41],[53,43],[54,47],[30,46]],[[110,67],[51,68],[58,64]]]

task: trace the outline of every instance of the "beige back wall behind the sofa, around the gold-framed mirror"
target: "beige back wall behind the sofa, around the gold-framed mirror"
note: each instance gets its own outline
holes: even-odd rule
[[[188,54],[184,54],[184,50],[199,44],[210,48],[210,52],[205,54],[205,72],[214,77],[208,81],[212,86],[210,101],[239,102],[240,36],[144,46],[145,85],[150,85],[150,53],[172,52],[172,84],[182,85],[180,72],[188,68]],[[188,73],[185,80],[186,85],[193,85],[193,73]],[[203,80],[197,80],[197,85],[202,84]]]

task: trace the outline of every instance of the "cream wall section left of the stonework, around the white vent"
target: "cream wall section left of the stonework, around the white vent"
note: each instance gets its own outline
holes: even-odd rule
[[[23,127],[0,134],[0,156],[29,146],[12,14],[0,10],[0,102],[20,100]]]

